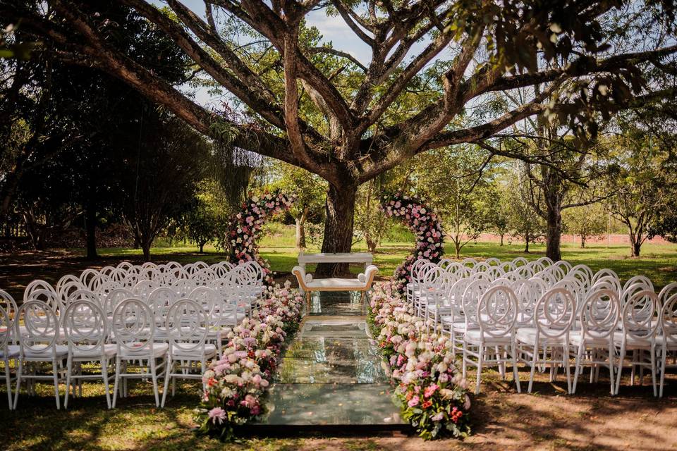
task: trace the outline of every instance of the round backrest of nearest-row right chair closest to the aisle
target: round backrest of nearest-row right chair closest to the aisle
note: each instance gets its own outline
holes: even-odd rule
[[[482,335],[499,338],[513,334],[517,309],[517,297],[511,288],[501,285],[489,288],[480,298],[475,313]]]

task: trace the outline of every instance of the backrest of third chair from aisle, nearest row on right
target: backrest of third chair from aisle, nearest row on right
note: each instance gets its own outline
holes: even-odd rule
[[[621,318],[621,301],[615,290],[602,288],[590,292],[579,311],[584,338],[614,338],[618,319]]]

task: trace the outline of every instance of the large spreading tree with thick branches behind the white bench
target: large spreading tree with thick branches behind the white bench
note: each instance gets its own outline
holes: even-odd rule
[[[415,154],[484,140],[536,113],[619,108],[652,89],[642,82],[646,66],[670,66],[677,51],[661,39],[672,31],[670,1],[208,0],[204,14],[178,0],[167,0],[170,11],[119,1],[171,37],[243,116],[205,109],[116,47],[110,37],[120,30],[97,2],[48,0],[42,11],[2,1],[0,13],[4,22],[23,20],[49,51],[109,71],[196,130],[227,130],[236,146],[327,180],[325,252],[350,249],[362,183]],[[370,61],[309,32],[305,16],[317,9],[340,16],[370,48]],[[633,22],[618,27],[628,10]],[[646,38],[639,50],[638,36]],[[567,80],[578,81],[575,89],[551,103]],[[468,108],[492,92],[542,83],[509,111]],[[422,100],[403,106],[413,90]]]

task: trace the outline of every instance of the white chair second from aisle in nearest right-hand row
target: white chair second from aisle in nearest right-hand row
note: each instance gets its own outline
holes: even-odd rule
[[[527,391],[531,393],[538,365],[550,364],[550,382],[554,382],[561,364],[566,372],[567,393],[571,393],[569,332],[576,319],[575,297],[566,288],[552,288],[538,299],[533,315],[533,326],[516,332],[518,350],[531,365]]]

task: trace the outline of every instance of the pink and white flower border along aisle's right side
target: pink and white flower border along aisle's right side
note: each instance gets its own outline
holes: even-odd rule
[[[451,339],[422,333],[432,324],[413,315],[393,283],[374,285],[367,321],[389,359],[403,418],[425,440],[468,435],[470,396]]]

